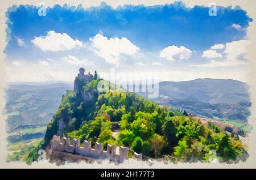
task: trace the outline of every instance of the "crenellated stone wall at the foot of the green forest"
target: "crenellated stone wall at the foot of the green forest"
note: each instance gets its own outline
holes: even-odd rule
[[[100,158],[105,159],[108,158],[112,161],[123,162],[124,160],[128,160],[128,147],[118,147],[117,145],[108,144],[107,151],[104,151],[102,143],[95,143],[95,149],[92,148],[92,142],[88,140],[84,140],[84,145],[81,147],[79,139],[73,139],[72,144],[70,143],[70,139],[60,136],[54,135],[51,141],[51,149],[53,151],[63,151],[72,154],[77,154],[86,157]],[[142,154],[134,153],[134,158],[137,160],[142,160]]]

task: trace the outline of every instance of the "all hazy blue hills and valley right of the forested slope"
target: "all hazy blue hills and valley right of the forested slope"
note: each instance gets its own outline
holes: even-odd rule
[[[248,91],[246,83],[229,79],[160,82],[159,97],[152,100],[202,117],[246,122],[251,105]]]

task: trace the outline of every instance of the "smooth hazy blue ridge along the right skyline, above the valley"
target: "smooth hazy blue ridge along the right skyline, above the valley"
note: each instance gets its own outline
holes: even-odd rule
[[[237,80],[196,79],[185,82],[159,83],[160,95],[172,100],[193,98],[193,101],[209,102],[210,104],[236,104],[249,101],[249,85]]]

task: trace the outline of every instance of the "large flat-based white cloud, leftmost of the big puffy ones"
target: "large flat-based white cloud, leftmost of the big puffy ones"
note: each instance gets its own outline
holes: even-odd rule
[[[31,41],[38,48],[42,49],[43,52],[47,50],[52,52],[58,52],[60,50],[71,50],[75,46],[82,46],[82,42],[79,40],[73,40],[66,33],[56,33],[55,31],[48,31],[47,36],[35,37]]]

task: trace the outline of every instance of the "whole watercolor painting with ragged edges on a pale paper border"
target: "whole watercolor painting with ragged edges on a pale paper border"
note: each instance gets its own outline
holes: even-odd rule
[[[6,162],[250,158],[240,6],[40,3],[6,18]]]

